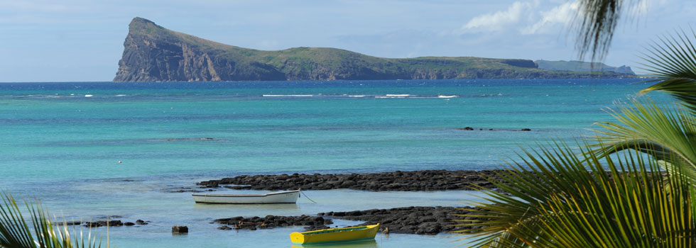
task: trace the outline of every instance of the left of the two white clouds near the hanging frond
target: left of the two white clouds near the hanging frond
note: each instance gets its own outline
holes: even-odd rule
[[[521,19],[538,6],[538,1],[533,2],[514,2],[505,11],[497,11],[496,13],[484,14],[471,19],[468,23],[462,26],[464,32],[467,31],[500,31],[507,27],[522,21]]]

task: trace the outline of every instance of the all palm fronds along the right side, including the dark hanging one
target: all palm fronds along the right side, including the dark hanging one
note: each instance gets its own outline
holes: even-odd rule
[[[601,59],[622,0],[581,0],[580,56]],[[696,33],[692,31],[696,38]],[[649,91],[679,100],[668,108],[636,98],[610,111],[616,122],[595,144],[525,152],[494,179],[504,193],[479,189],[486,203],[464,215],[474,247],[696,247],[696,48],[680,32],[643,54],[656,79]],[[609,154],[619,154],[612,158]],[[648,157],[643,156],[647,154]]]

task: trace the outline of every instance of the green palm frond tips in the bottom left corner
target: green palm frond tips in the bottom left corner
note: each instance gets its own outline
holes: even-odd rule
[[[77,230],[73,225],[68,227],[56,225],[48,211],[41,208],[40,203],[25,201],[31,221],[24,219],[14,198],[9,194],[0,193],[0,247],[12,248],[80,248],[101,247],[101,239],[86,235],[82,229]],[[81,227],[80,227],[81,228]],[[109,245],[107,244],[107,247]]]

